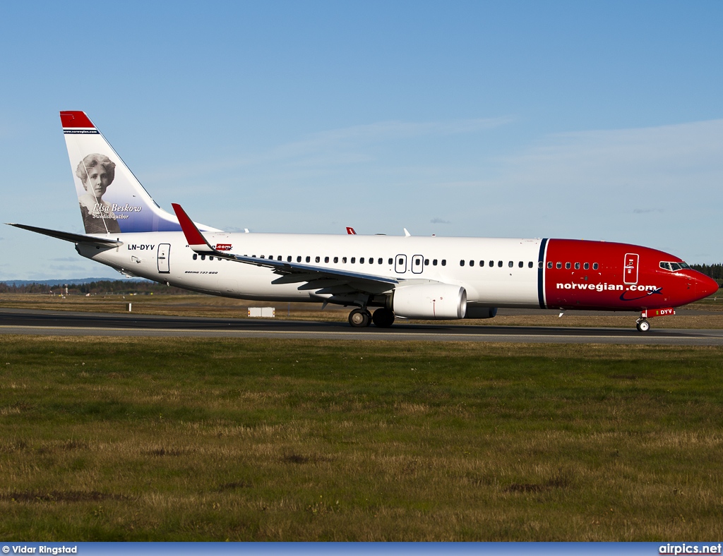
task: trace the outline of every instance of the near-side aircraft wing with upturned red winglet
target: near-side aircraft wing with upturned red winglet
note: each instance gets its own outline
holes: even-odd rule
[[[189,247],[196,253],[213,255],[219,259],[228,259],[245,264],[255,264],[273,269],[281,277],[272,284],[301,284],[299,290],[317,290],[318,294],[342,295],[353,292],[383,293],[394,289],[399,283],[397,279],[365,274],[362,272],[348,272],[346,270],[328,269],[323,266],[274,261],[273,259],[260,259],[234,255],[218,251],[208,243],[208,240],[198,230],[193,220],[184,211],[181,205],[171,203],[174,207]]]

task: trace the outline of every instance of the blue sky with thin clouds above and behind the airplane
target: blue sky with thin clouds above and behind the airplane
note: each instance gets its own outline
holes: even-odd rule
[[[637,243],[723,261],[723,4],[6,2],[3,222],[82,232],[59,110],[227,230]],[[0,233],[0,279],[119,277]]]

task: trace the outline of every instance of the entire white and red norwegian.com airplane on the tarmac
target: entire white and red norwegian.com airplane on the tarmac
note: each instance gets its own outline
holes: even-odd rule
[[[492,318],[497,308],[635,310],[648,318],[718,290],[676,256],[627,243],[566,239],[228,233],[151,199],[83,112],[61,112],[85,235],[72,241],[127,276],[196,292],[354,307],[351,326],[396,317]],[[370,308],[376,308],[373,315]]]

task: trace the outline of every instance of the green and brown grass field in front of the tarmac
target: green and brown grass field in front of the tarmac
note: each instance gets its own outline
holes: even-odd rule
[[[723,347],[0,337],[0,538],[723,531]]]

